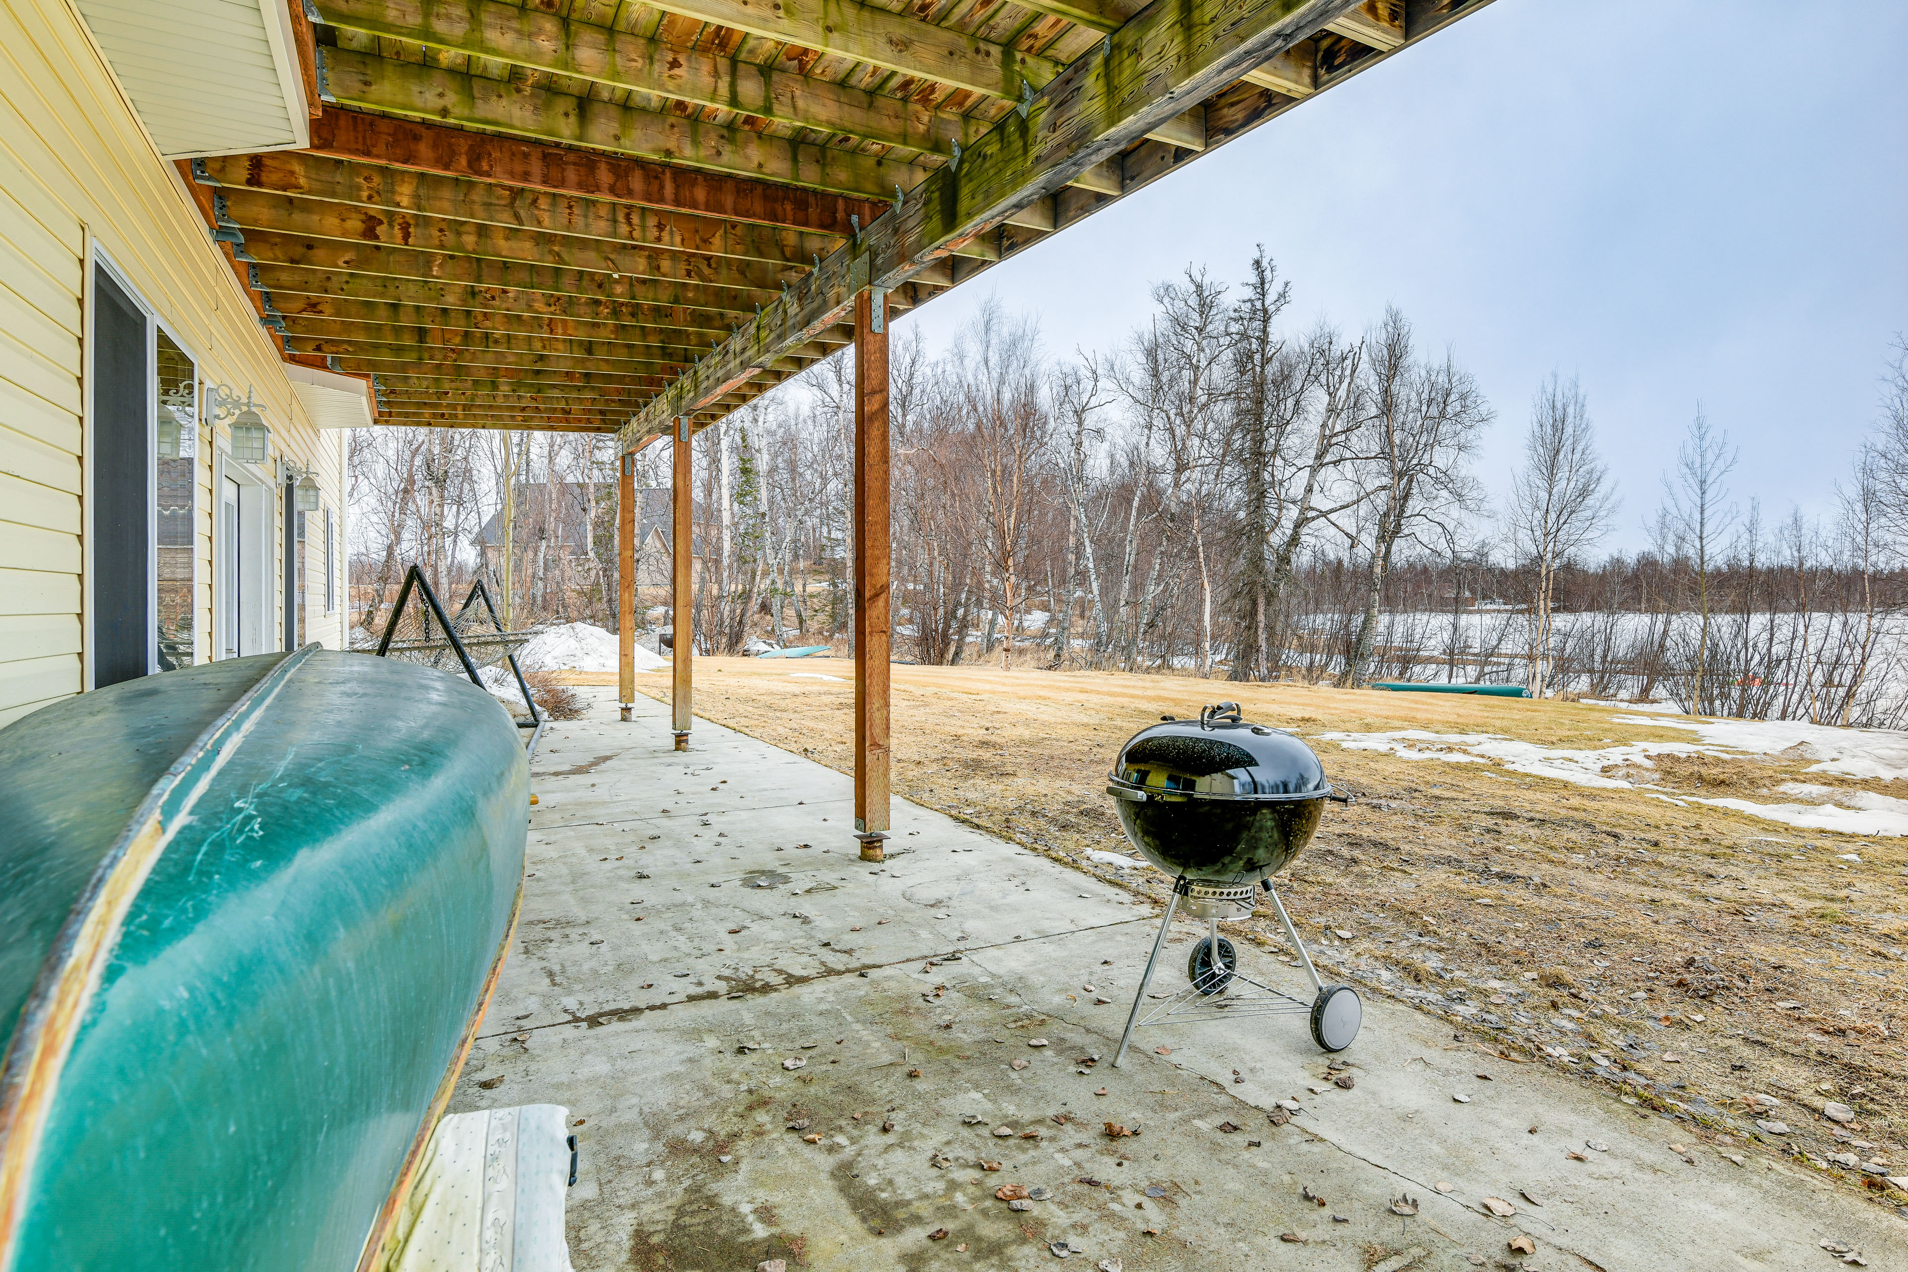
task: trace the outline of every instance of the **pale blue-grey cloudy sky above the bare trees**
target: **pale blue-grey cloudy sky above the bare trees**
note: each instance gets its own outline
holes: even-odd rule
[[[1908,4],[1496,0],[904,318],[988,297],[1112,349],[1187,263],[1263,242],[1294,324],[1399,305],[1498,412],[1502,490],[1551,370],[1589,397],[1635,549],[1698,400],[1765,513],[1832,507],[1908,330]]]

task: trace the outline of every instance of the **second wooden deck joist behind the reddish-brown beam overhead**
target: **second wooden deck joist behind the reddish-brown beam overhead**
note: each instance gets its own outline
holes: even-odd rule
[[[784,282],[794,282],[813,269],[817,256],[798,257],[790,250],[792,244],[775,244],[773,231],[757,227],[746,231],[746,236],[756,238],[752,244],[754,252],[702,254],[683,246],[584,238],[580,235],[485,225],[481,221],[418,215],[414,212],[380,214],[357,204],[242,189],[225,193],[225,212],[244,231],[265,229],[300,238],[342,238],[353,244],[374,242],[416,252],[448,252],[452,256],[525,261],[530,265],[553,265],[557,269],[593,269],[637,278],[683,278],[691,277],[693,271],[693,277],[716,286],[750,286],[759,290],[778,290]],[[725,246],[735,248],[740,242]],[[775,252],[773,259],[763,257],[763,252],[769,250]]]

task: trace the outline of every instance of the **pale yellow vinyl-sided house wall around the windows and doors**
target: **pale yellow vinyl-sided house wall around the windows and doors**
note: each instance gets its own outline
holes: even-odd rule
[[[200,381],[250,387],[280,454],[315,469],[345,557],[342,431],[311,425],[269,334],[206,233],[177,170],[134,114],[76,10],[0,0],[0,725],[90,687],[86,574],[86,315],[90,261],[107,257]],[[204,412],[202,412],[204,414]],[[212,519],[225,425],[200,421],[193,662],[212,658]],[[273,475],[271,463],[265,475]],[[282,572],[282,515],[271,519]],[[324,612],[322,513],[307,540],[305,637],[343,646]],[[343,597],[343,587],[336,587]],[[282,578],[267,624],[282,648]]]

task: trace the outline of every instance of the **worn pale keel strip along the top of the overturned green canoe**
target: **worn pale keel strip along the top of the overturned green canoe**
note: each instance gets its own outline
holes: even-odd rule
[[[27,1186],[59,1077],[99,990],[139,889],[237,742],[313,654],[280,658],[185,748],[153,784],[93,875],[34,978],[19,1026],[0,1058],[0,1272],[13,1266]]]

